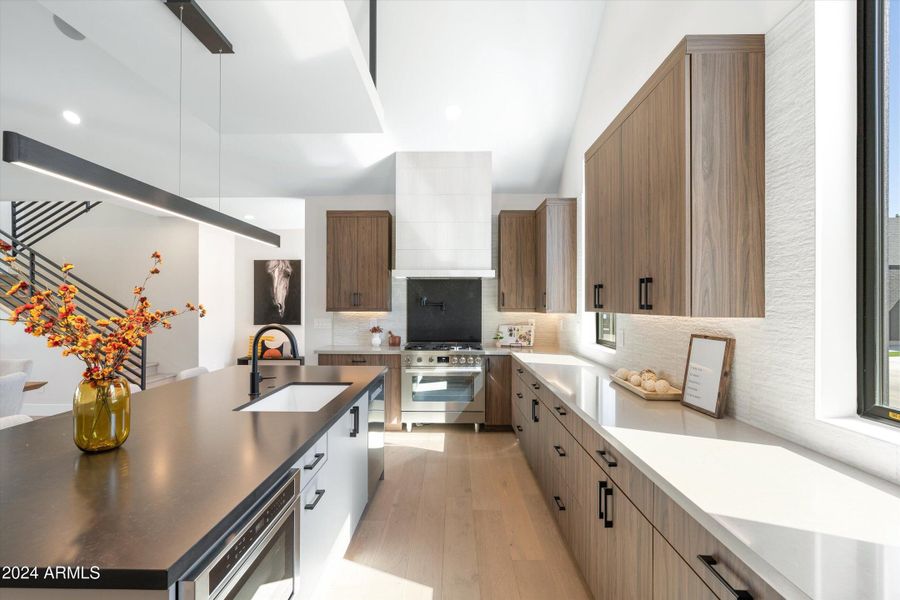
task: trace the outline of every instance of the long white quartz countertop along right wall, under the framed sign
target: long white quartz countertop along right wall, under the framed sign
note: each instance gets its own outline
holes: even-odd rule
[[[733,418],[649,402],[560,354],[514,356],[787,598],[900,598],[900,487]]]

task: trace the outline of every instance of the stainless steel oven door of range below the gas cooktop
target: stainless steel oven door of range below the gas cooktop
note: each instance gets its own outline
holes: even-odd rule
[[[405,411],[483,412],[484,372],[481,368],[406,368],[401,384]]]

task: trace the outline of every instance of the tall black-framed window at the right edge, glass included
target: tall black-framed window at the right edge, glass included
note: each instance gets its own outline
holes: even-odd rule
[[[900,426],[900,0],[858,0],[859,414]]]

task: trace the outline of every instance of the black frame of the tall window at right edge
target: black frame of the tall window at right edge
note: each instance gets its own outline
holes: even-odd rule
[[[890,396],[884,315],[887,209],[882,1],[857,0],[857,413],[900,427],[900,411],[886,406]]]

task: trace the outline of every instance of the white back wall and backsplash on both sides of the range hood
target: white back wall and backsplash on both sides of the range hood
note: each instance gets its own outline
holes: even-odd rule
[[[495,194],[492,198],[492,268],[497,269],[497,214],[501,210],[533,209],[545,198],[541,194]],[[406,343],[406,280],[392,280],[392,310],[380,313],[329,313],[325,311],[325,212],[327,210],[394,210],[393,196],[319,197],[306,201],[306,285],[305,315],[307,328],[306,357],[314,360],[317,348],[329,345],[367,345],[368,329],[377,322]],[[501,313],[497,310],[497,279],[482,280],[482,331],[490,340],[501,323],[535,320],[536,343],[557,346],[560,331],[576,329],[574,315],[542,315],[538,313]]]

